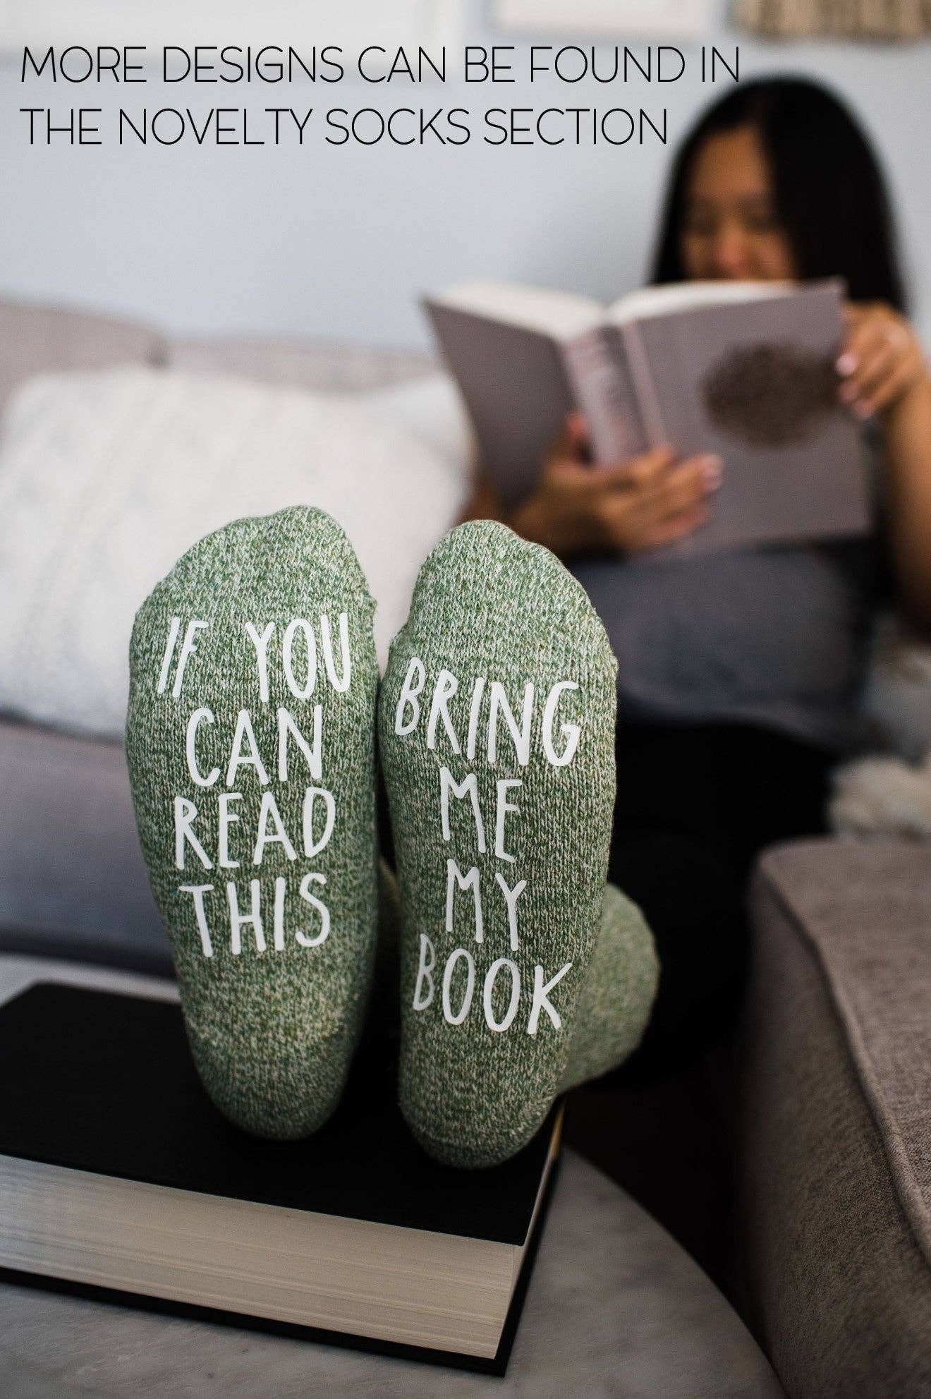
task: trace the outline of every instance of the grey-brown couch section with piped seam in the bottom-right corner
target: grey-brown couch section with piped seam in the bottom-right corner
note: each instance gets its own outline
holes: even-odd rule
[[[753,891],[744,1189],[790,1395],[931,1392],[931,849],[770,851]]]

